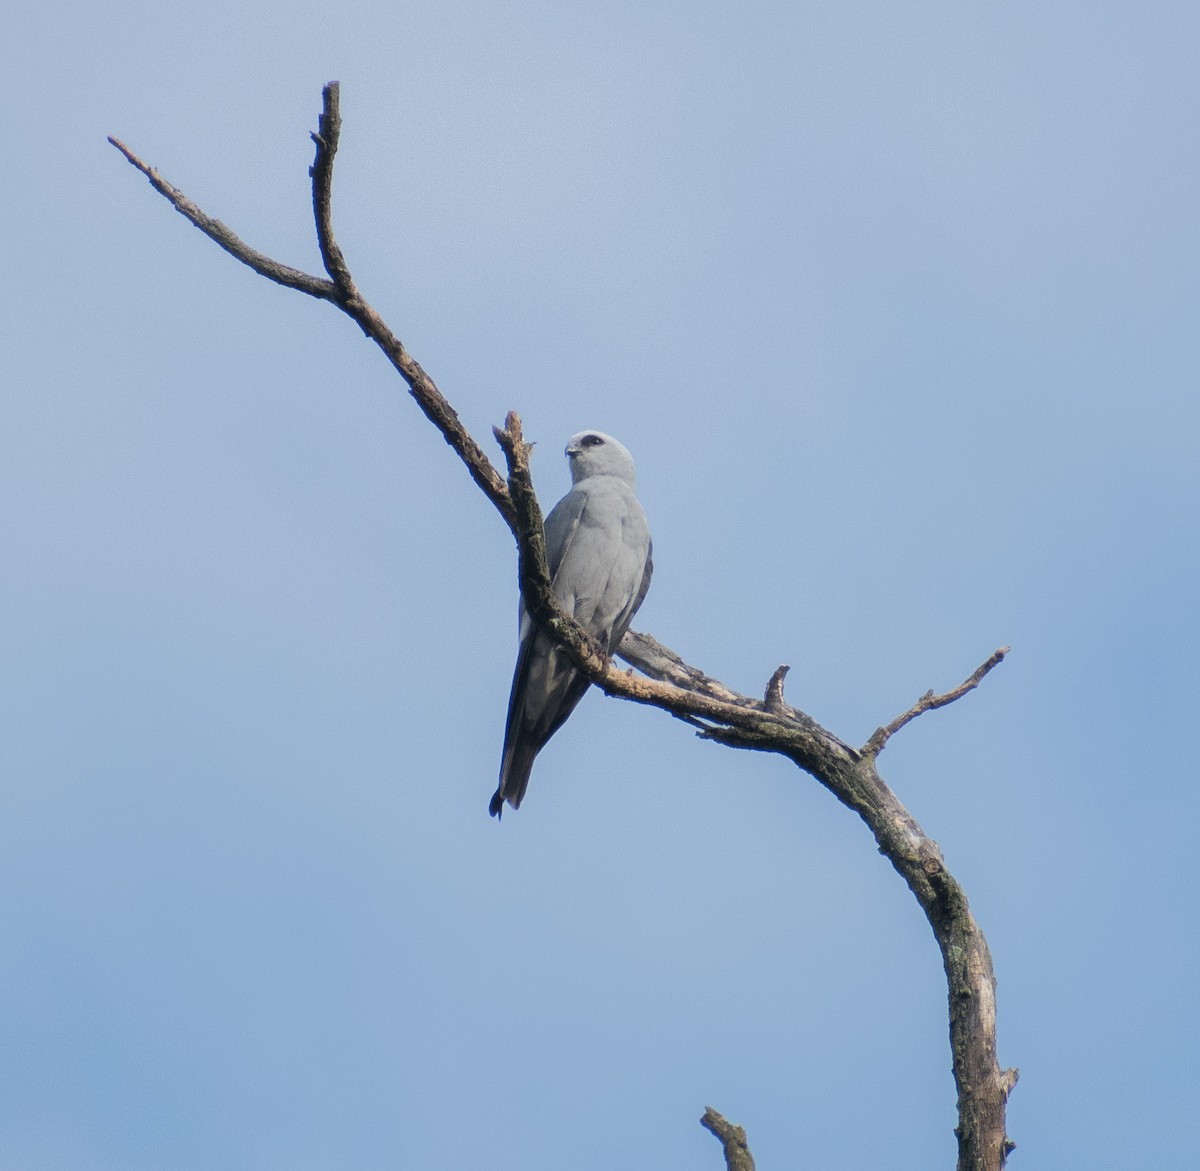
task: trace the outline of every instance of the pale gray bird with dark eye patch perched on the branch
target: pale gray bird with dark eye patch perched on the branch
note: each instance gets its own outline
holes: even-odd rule
[[[546,559],[554,594],[606,651],[620,643],[650,588],[650,530],[634,496],[634,457],[612,436],[581,431],[566,444],[571,491],[546,517]],[[588,690],[566,651],[521,603],[521,641],[504,728],[500,783],[488,805],[521,807],[529,770]]]

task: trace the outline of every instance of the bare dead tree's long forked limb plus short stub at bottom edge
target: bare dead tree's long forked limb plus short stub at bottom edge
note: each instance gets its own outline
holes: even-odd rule
[[[541,509],[529,475],[529,445],[521,420],[510,413],[496,438],[504,451],[508,476],[492,466],[458,420],[433,380],[412,358],[379,314],[362,298],[350,276],[332,228],[334,157],[341,132],[338,85],[323,91],[317,155],[312,176],[317,242],[328,278],[312,276],[256,252],[221,221],[214,220],[142,162],[124,143],[109,142],[150,180],[176,211],[230,256],[260,276],[310,296],[330,301],[358,323],[408,384],[426,418],[454,448],[472,479],[511,529],[518,550],[521,591],[534,619],[566,649],[571,659],[607,695],[662,708],[731,747],[776,752],[809,773],[866,823],[883,853],[908,884],[934,930],[949,991],[950,1050],[958,1087],[958,1171],[998,1171],[1013,1148],[1004,1133],[1004,1107],[1015,1069],[996,1061],[996,981],[991,954],[967,905],[962,888],[946,869],[938,846],[883,782],[875,762],[888,739],[924,711],[961,698],[1008,653],[995,651],[959,686],[928,691],[902,715],[878,728],[862,749],[853,749],[811,716],[784,699],[787,667],[772,675],[762,699],[726,687],[684,662],[649,635],[630,631],[618,648],[642,674],[617,667],[593,638],[558,605],[546,566]],[[725,1147],[730,1171],[752,1171],[745,1131],[708,1110],[703,1124]]]

